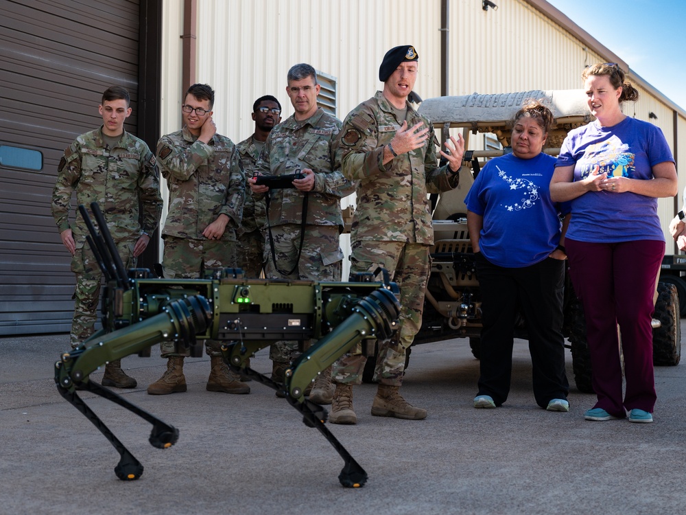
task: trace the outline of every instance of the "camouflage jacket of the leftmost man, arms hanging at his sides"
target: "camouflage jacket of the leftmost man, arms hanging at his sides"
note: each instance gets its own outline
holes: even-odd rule
[[[160,222],[163,203],[155,157],[144,141],[126,130],[111,149],[102,139],[102,126],[82,134],[60,160],[52,216],[60,233],[71,228],[76,248],[81,249],[88,229],[78,211],[69,224],[73,191],[77,204],[88,211],[91,203],[99,204],[116,242],[135,242],[143,232],[152,235]]]

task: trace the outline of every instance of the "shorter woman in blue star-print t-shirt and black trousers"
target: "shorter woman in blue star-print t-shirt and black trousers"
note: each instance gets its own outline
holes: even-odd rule
[[[553,121],[540,102],[521,108],[513,119],[512,153],[488,161],[465,199],[484,323],[475,408],[495,408],[508,398],[521,309],[536,404],[569,411],[562,335],[566,256],[560,244],[565,213],[548,192],[555,158],[542,152]]]

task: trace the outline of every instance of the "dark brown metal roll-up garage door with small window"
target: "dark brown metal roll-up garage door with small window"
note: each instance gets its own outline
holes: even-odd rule
[[[139,23],[138,0],[0,3],[0,335],[71,327],[71,256],[50,214],[57,165],[102,123],[112,84],[130,91],[136,133]]]

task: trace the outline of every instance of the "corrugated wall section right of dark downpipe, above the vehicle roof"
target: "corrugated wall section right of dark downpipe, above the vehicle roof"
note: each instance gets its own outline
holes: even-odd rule
[[[451,95],[582,87],[584,66],[600,56],[528,3],[496,3],[450,2]]]

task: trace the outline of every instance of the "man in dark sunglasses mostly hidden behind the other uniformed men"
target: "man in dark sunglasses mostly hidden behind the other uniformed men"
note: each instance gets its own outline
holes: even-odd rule
[[[236,145],[241,157],[246,180],[252,177],[257,167],[257,158],[264,148],[271,130],[281,122],[281,104],[272,95],[265,95],[252,104],[252,119],[255,133]],[[243,205],[241,234],[238,236],[238,266],[246,277],[258,278],[263,270],[264,242],[267,223],[264,198],[255,198],[246,182],[246,201]]]

